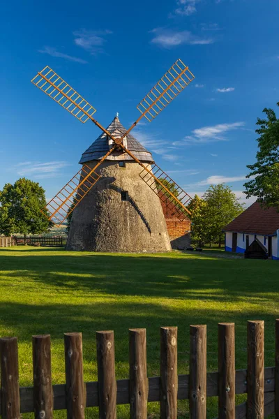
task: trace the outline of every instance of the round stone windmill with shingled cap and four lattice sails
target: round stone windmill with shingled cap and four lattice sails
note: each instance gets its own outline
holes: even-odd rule
[[[142,118],[149,122],[155,119],[194,78],[188,66],[178,59],[137,105],[140,116],[128,130],[118,115],[104,128],[93,117],[96,109],[49,66],[31,80],[80,122],[91,119],[103,131],[82,154],[82,168],[43,212],[56,226],[61,226],[71,214],[67,249],[170,249],[160,200],[177,220],[183,221],[190,214],[191,198],[159,168],[151,153],[130,132]],[[125,172],[121,171],[123,168]],[[123,201],[129,205],[123,207]]]

